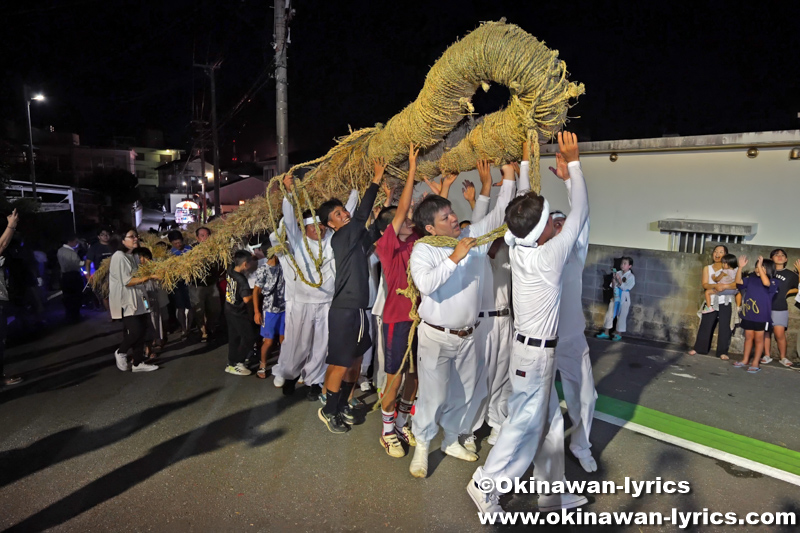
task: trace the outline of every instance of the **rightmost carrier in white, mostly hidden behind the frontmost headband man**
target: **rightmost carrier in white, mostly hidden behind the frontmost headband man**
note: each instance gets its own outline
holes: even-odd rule
[[[558,169],[550,168],[557,176],[567,176],[567,165],[561,162]],[[567,188],[571,187],[567,180]],[[561,211],[550,213],[556,228],[561,233],[567,216]],[[586,342],[586,319],[583,315],[581,293],[583,291],[583,267],[589,253],[589,219],[581,228],[578,240],[567,259],[561,275],[561,307],[558,313],[558,346],[556,347],[556,368],[561,373],[561,386],[564,401],[572,427],[569,449],[587,472],[597,471],[597,462],[592,457],[589,435],[592,431],[594,405],[597,392],[594,389],[592,360],[589,358],[589,344]]]

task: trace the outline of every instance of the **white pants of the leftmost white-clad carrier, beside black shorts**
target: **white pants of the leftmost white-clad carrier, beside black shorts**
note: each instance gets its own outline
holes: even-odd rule
[[[286,331],[278,364],[272,374],[284,379],[302,375],[306,386],[325,381],[330,302],[306,304],[286,301]]]

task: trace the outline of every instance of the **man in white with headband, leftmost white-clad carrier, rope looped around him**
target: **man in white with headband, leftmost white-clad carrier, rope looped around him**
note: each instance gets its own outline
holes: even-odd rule
[[[283,184],[291,195],[294,192],[293,176],[287,174]],[[352,191],[347,200],[348,207],[354,207],[357,201],[358,192]],[[286,326],[281,355],[278,363],[272,368],[272,374],[275,376],[276,387],[293,387],[295,380],[302,378],[309,387],[309,401],[316,401],[322,392],[322,382],[325,379],[328,311],[333,301],[336,283],[331,234],[325,231],[326,227],[319,222],[318,217],[312,217],[310,210],[303,213],[304,228],[301,231],[294,205],[287,197],[283,199],[283,225],[286,228],[289,253],[292,254],[294,262],[288,258],[283,258],[281,262],[286,280]],[[314,259],[319,257],[320,251],[322,285],[312,287],[300,279],[300,275],[295,271],[295,263],[307,281],[316,283],[320,274],[317,273]]]

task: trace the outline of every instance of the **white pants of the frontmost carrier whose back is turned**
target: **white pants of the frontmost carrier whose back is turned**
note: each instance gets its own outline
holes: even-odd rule
[[[556,354],[553,348],[514,341],[509,365],[511,396],[508,418],[497,443],[473,479],[519,477],[533,461],[537,481],[564,479],[564,419],[555,388]]]

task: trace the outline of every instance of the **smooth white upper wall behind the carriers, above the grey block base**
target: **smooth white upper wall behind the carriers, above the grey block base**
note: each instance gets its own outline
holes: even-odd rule
[[[686,218],[756,222],[758,233],[746,242],[800,247],[800,161],[790,161],[789,150],[760,147],[755,159],[744,148],[620,153],[613,163],[607,153],[584,154],[590,242],[667,250],[669,237],[656,222]],[[542,193],[553,209],[569,212],[566,189],[549,166],[555,166],[554,157],[543,155]],[[493,169],[492,176],[499,181],[500,170]],[[460,219],[470,217],[461,195],[464,179],[480,187],[477,171],[464,173],[453,185],[450,200]]]

